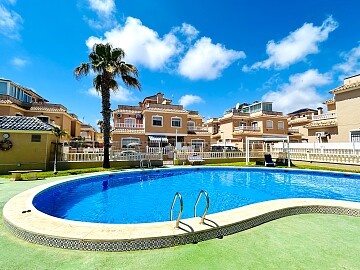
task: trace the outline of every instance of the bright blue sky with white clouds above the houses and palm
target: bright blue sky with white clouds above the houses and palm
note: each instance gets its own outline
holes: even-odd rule
[[[0,0],[0,77],[95,126],[100,96],[73,70],[110,42],[142,84],[119,80],[112,109],[157,92],[205,120],[255,100],[284,113],[325,107],[360,73],[359,9],[355,0]]]

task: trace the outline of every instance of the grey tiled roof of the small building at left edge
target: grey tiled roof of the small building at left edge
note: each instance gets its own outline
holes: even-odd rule
[[[51,131],[53,128],[36,117],[0,116],[0,129]]]

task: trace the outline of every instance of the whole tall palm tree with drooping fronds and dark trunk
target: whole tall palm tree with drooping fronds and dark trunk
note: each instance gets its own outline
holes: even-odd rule
[[[110,89],[114,92],[118,89],[115,80],[121,76],[123,83],[128,87],[138,88],[141,85],[137,79],[138,70],[135,66],[123,61],[125,52],[121,48],[113,48],[111,44],[95,44],[89,54],[89,63],[81,63],[74,70],[75,77],[79,79],[83,75],[88,75],[90,70],[97,73],[93,80],[93,85],[101,94],[102,117],[104,131],[104,161],[103,168],[110,168],[109,147],[110,147]]]

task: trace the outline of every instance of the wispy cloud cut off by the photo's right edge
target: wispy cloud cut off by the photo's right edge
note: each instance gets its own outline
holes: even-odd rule
[[[360,73],[360,45],[349,52],[343,52],[341,57],[344,62],[334,66],[334,70],[342,72],[340,80]]]

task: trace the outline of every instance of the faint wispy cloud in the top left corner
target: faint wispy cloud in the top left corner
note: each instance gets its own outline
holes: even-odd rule
[[[0,33],[11,39],[19,39],[23,20],[15,11],[0,5]]]

